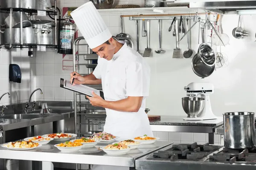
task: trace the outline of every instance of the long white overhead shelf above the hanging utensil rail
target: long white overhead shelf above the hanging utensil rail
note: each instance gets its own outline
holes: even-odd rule
[[[188,8],[187,6],[178,7],[156,7],[156,8],[118,8],[118,9],[98,9],[101,15],[117,14],[195,14],[204,13],[205,10]]]

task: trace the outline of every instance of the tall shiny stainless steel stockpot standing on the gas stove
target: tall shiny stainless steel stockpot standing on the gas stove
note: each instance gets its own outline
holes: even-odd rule
[[[255,118],[252,112],[223,113],[224,147],[244,149],[255,146]]]

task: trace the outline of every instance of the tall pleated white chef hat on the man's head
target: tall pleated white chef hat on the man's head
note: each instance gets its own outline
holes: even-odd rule
[[[112,37],[92,2],[76,8],[71,16],[90,48],[96,48]]]

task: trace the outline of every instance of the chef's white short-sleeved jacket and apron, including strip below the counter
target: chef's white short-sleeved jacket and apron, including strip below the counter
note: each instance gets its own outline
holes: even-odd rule
[[[119,136],[118,141],[137,136],[153,136],[145,113],[145,98],[149,94],[150,68],[145,59],[126,44],[114,54],[110,61],[100,58],[93,71],[102,79],[105,100],[117,101],[128,96],[143,96],[138,112],[120,112],[106,108],[104,131]],[[94,165],[93,170],[128,170],[128,167]]]

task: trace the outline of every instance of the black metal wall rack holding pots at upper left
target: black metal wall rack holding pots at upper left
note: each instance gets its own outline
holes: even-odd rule
[[[20,0],[20,4],[23,4],[23,0]],[[12,12],[19,11],[20,16],[22,16],[22,13],[25,12],[29,14],[30,16],[37,15],[38,10],[37,9],[28,9],[28,8],[0,8],[0,13],[10,13],[10,37],[9,37],[9,44],[0,44],[0,50],[2,48],[2,45],[12,45],[14,48],[20,48],[23,50],[23,48],[35,48],[37,47],[36,44],[31,45],[23,45],[23,20],[22,17],[20,17],[20,44],[12,44]],[[43,10],[40,10],[43,11]],[[45,45],[46,48],[55,48],[57,50],[57,0],[54,0],[54,11],[46,11],[46,14],[48,15],[54,15],[54,21],[55,21],[55,37],[54,37],[54,45]]]

